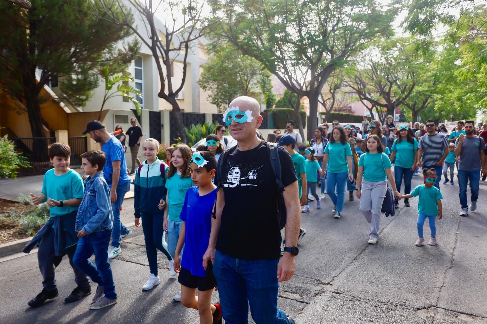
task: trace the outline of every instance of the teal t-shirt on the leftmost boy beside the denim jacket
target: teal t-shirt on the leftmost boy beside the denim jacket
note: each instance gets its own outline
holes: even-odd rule
[[[83,198],[85,187],[83,179],[73,169],[61,176],[54,174],[54,168],[47,171],[42,180],[41,193],[54,200]],[[49,207],[51,217],[63,216],[78,210],[79,206]]]

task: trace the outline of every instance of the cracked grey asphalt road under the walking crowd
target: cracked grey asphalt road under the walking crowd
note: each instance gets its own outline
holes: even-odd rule
[[[413,186],[421,182],[421,175],[414,176]],[[396,216],[383,216],[376,245],[367,243],[368,223],[358,199],[345,202],[340,219],[333,218],[328,196],[321,210],[312,202],[312,211],[302,214],[307,234],[296,274],[281,285],[279,307],[301,324],[487,324],[487,181],[480,187],[477,211],[460,217],[458,184],[441,185],[444,216],[437,221],[436,246],[414,246],[416,199],[409,208],[401,202]],[[127,224],[133,222],[131,204],[127,199],[122,211]],[[75,282],[63,260],[56,269],[59,296],[30,308],[27,302],[42,289],[37,254],[31,253],[0,259],[0,323],[199,323],[196,310],[172,302],[179,284],[169,276],[162,253],[161,284],[142,291],[149,266],[142,230],[131,229],[122,253],[111,260],[118,304],[90,310],[91,296],[64,304]],[[427,224],[424,236],[428,242]],[[243,244],[251,241],[249,233]],[[218,292],[213,299],[218,300]]]

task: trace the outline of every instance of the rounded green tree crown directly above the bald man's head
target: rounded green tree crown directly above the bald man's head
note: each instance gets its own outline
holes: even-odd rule
[[[223,111],[238,96],[250,96],[266,103],[269,91],[272,93],[272,85],[269,73],[264,71],[259,61],[243,55],[233,46],[210,45],[208,49],[212,55],[202,65],[203,72],[197,82],[201,89],[209,92],[213,105]]]

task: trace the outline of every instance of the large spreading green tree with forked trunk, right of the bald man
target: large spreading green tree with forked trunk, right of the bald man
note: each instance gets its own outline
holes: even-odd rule
[[[262,65],[291,92],[310,101],[308,129],[330,74],[379,36],[395,10],[374,0],[210,0],[212,35]]]

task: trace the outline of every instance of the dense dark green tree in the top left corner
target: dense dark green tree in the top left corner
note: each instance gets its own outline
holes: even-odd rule
[[[52,100],[42,96],[44,86],[58,80],[60,100],[83,106],[101,67],[123,71],[138,51],[137,41],[117,48],[131,31],[93,17],[87,12],[92,6],[100,8],[89,0],[33,0],[28,9],[0,1],[0,83],[27,112],[33,137],[44,136],[40,105]]]

